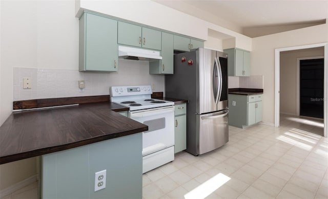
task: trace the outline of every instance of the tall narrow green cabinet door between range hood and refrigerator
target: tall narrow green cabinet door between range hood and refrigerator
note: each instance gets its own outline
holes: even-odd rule
[[[173,34],[162,32],[161,73],[173,74]]]

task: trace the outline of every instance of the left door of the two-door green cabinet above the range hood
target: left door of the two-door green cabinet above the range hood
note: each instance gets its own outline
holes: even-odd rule
[[[125,22],[118,22],[117,43],[141,47],[141,27]]]

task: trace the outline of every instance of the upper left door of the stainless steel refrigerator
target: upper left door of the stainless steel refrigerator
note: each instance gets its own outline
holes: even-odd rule
[[[199,48],[196,53],[196,61],[199,67],[196,68],[197,102],[196,113],[208,113],[217,111],[217,102],[219,98],[219,88],[221,87],[219,79],[219,68],[216,58],[216,51]]]

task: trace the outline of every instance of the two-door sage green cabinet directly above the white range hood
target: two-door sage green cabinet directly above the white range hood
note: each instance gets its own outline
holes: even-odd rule
[[[118,22],[118,44],[161,50],[161,31]]]

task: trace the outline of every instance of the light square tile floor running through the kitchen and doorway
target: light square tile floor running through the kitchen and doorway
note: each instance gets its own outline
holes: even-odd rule
[[[229,127],[229,143],[180,152],[142,175],[144,198],[328,198],[328,138],[322,120],[280,116],[280,127]],[[5,199],[37,198],[37,183]]]

